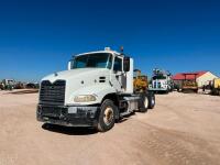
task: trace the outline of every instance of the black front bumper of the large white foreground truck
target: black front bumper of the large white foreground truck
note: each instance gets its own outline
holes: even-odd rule
[[[99,106],[44,106],[38,105],[37,121],[65,127],[96,127]]]

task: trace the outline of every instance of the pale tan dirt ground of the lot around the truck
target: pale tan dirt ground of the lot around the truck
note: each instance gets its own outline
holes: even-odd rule
[[[97,133],[47,128],[35,119],[37,94],[0,91],[0,165],[220,164],[220,97],[173,92],[156,101]]]

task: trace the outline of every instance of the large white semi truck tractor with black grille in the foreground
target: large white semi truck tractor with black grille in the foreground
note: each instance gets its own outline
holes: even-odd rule
[[[134,92],[133,59],[105,48],[73,57],[68,70],[44,77],[36,110],[38,121],[65,127],[113,128],[123,116],[155,106],[151,91]]]

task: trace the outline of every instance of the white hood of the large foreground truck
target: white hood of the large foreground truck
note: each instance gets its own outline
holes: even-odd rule
[[[77,95],[92,95],[99,90],[110,88],[110,72],[107,68],[79,68],[54,73],[42,79],[50,80],[54,84],[56,80],[65,80],[65,105],[74,103],[73,100]],[[105,81],[100,80],[105,78]],[[95,102],[94,102],[95,103]]]

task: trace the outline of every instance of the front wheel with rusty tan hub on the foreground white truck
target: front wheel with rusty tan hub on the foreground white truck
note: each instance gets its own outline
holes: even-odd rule
[[[117,107],[114,106],[112,100],[106,99],[101,103],[100,114],[98,118],[97,130],[99,132],[106,132],[113,128],[116,122],[116,111]]]

